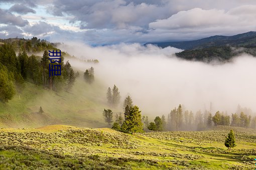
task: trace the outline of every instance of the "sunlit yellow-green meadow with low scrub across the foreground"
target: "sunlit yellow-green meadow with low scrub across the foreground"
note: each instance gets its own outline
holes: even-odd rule
[[[0,129],[0,168],[39,169],[253,169],[256,132],[234,128],[237,146],[228,152],[229,127],[215,131],[148,132],[51,125]]]

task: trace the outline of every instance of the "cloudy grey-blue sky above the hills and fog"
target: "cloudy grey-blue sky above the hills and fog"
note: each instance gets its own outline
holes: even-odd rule
[[[256,1],[0,0],[0,16],[0,38],[142,44],[254,31]]]

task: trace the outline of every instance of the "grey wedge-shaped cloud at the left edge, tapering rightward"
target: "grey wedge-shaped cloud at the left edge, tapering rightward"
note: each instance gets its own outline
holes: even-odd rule
[[[11,25],[17,25],[17,26],[25,26],[29,22],[28,20],[22,19],[21,16],[15,16],[11,12],[5,9],[0,8],[0,23],[5,23],[5,24],[11,24]]]

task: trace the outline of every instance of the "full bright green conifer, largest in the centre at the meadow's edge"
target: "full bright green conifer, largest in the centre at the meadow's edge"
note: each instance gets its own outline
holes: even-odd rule
[[[132,132],[132,134],[134,132],[143,132],[142,115],[138,106],[130,107],[130,114],[127,115],[124,123],[127,125],[126,131]]]

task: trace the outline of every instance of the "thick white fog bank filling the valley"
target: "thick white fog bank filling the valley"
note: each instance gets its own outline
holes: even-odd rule
[[[69,59],[72,66],[85,71],[95,70],[96,81],[104,88],[116,84],[121,102],[130,94],[143,113],[169,113],[179,104],[196,111],[235,112],[237,105],[256,110],[256,58],[248,54],[236,56],[228,63],[204,63],[177,58],[182,51],[174,47],[117,44],[92,47],[82,43],[60,46],[81,59],[98,59],[86,64]],[[102,96],[105,97],[105,96]]]

